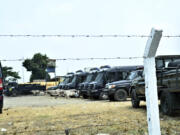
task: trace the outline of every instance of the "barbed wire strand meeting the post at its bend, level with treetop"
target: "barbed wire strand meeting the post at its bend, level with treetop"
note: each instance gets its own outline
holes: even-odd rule
[[[118,59],[142,59],[144,57],[105,57],[105,58],[59,58],[56,61],[83,61],[83,60],[118,60]],[[1,59],[0,61],[24,61],[25,59]]]

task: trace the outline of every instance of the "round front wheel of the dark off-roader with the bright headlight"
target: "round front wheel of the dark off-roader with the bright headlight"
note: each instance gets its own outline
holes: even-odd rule
[[[119,89],[114,94],[114,99],[116,101],[125,101],[127,99],[127,92],[123,89]]]

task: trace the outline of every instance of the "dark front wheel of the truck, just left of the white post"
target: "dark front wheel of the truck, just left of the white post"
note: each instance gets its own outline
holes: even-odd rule
[[[131,93],[131,104],[133,108],[139,108],[140,100],[135,90],[132,90],[132,93]]]

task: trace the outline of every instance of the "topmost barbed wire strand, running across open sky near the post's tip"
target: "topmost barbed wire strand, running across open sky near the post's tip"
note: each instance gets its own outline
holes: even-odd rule
[[[25,37],[25,38],[45,38],[45,37],[57,37],[57,38],[118,38],[118,37],[126,37],[126,38],[145,38],[151,37],[150,35],[123,35],[123,34],[100,34],[100,35],[91,35],[91,34],[0,34],[0,37]],[[165,38],[179,38],[180,35],[164,35],[162,37]]]

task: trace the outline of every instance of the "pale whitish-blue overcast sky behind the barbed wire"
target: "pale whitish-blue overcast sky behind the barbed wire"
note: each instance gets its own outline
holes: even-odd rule
[[[0,34],[180,34],[179,0],[0,0]],[[147,38],[0,38],[0,59],[140,57]],[[180,38],[162,38],[157,55],[179,54]],[[12,66],[29,81],[22,62]],[[84,67],[142,64],[142,60],[58,61],[57,75]],[[22,79],[20,80],[22,82]]]

